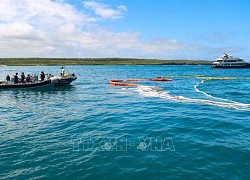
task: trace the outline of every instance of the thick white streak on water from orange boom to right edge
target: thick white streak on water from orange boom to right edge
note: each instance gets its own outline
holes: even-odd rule
[[[136,91],[147,97],[159,97],[163,99],[168,99],[176,102],[184,102],[184,103],[196,103],[196,104],[206,104],[213,105],[224,108],[234,108],[238,110],[246,110],[250,111],[250,104],[244,104],[239,102],[220,102],[220,101],[212,101],[212,100],[204,100],[204,99],[192,99],[184,96],[172,96],[169,92],[164,91],[161,88],[155,86],[143,86],[139,85],[136,88]]]

